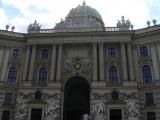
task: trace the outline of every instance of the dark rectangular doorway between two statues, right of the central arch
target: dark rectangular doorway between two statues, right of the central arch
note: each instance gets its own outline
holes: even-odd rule
[[[122,110],[121,109],[111,109],[110,110],[110,120],[122,120]]]

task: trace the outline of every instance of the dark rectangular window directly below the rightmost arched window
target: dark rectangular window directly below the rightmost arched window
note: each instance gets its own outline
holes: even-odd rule
[[[146,105],[154,105],[153,93],[145,93]]]

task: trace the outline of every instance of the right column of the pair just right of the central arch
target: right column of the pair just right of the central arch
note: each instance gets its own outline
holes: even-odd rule
[[[99,71],[100,81],[104,81],[104,46],[103,43],[99,43]]]

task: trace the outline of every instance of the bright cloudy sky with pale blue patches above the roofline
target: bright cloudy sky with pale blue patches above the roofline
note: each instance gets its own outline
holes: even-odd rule
[[[85,0],[102,16],[105,27],[115,27],[121,16],[129,19],[134,29],[147,27],[146,22],[160,24],[160,0]],[[15,26],[15,32],[27,32],[35,20],[42,29],[52,29],[65,19],[70,9],[83,0],[0,0],[0,29]],[[11,29],[11,27],[10,27]],[[10,30],[9,29],[9,30]]]

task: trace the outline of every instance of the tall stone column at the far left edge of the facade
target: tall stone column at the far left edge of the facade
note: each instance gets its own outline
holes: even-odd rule
[[[5,81],[6,79],[9,56],[10,56],[10,50],[6,48],[4,53],[3,64],[2,64],[2,71],[1,71],[1,78],[0,78],[1,81]]]

